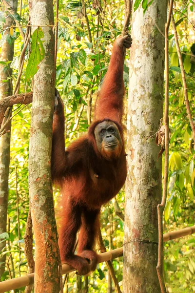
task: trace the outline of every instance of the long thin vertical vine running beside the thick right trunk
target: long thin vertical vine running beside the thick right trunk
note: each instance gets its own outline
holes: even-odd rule
[[[164,110],[164,125],[165,125],[165,166],[164,166],[164,181],[162,201],[157,206],[158,216],[158,262],[156,271],[160,284],[161,293],[166,293],[166,287],[163,279],[163,210],[167,199],[167,185],[169,174],[169,26],[173,9],[173,0],[170,1],[169,15],[165,25],[165,110]]]

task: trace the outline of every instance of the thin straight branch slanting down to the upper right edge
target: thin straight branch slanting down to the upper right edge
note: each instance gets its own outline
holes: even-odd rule
[[[174,30],[174,37],[175,37],[175,42],[176,42],[176,50],[177,50],[177,55],[178,55],[178,59],[179,59],[179,65],[180,65],[180,69],[181,69],[181,77],[182,77],[182,81],[183,81],[183,87],[184,87],[184,101],[186,104],[186,112],[188,115],[188,119],[190,122],[190,126],[192,128],[192,133],[193,133],[193,139],[194,139],[194,149],[195,149],[195,124],[194,121],[192,119],[192,114],[190,111],[190,103],[188,100],[188,88],[187,88],[187,83],[186,83],[186,76],[185,76],[185,71],[183,68],[183,61],[182,61],[182,57],[181,57],[181,51],[180,51],[180,47],[179,47],[179,42],[178,42],[178,36],[177,36],[177,31],[176,31],[176,23],[174,20],[174,16],[172,13],[172,26],[173,26],[173,30]]]

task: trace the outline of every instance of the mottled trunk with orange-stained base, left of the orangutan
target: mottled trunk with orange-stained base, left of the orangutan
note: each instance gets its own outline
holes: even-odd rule
[[[35,292],[59,293],[59,247],[51,182],[55,96],[52,0],[30,0],[32,25],[42,26],[45,57],[34,77],[29,150],[29,193],[35,234]],[[34,27],[36,29],[37,27]]]

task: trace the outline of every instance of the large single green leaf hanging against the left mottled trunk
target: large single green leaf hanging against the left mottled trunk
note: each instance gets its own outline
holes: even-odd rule
[[[26,67],[25,83],[29,81],[39,70],[39,63],[45,57],[45,49],[41,38],[44,37],[43,31],[38,27],[32,36],[31,54]]]

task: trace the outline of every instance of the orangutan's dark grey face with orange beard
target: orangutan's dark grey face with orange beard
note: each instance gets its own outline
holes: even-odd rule
[[[98,151],[109,154],[109,157],[119,156],[122,149],[122,139],[117,125],[112,121],[103,121],[95,128],[95,138]]]

